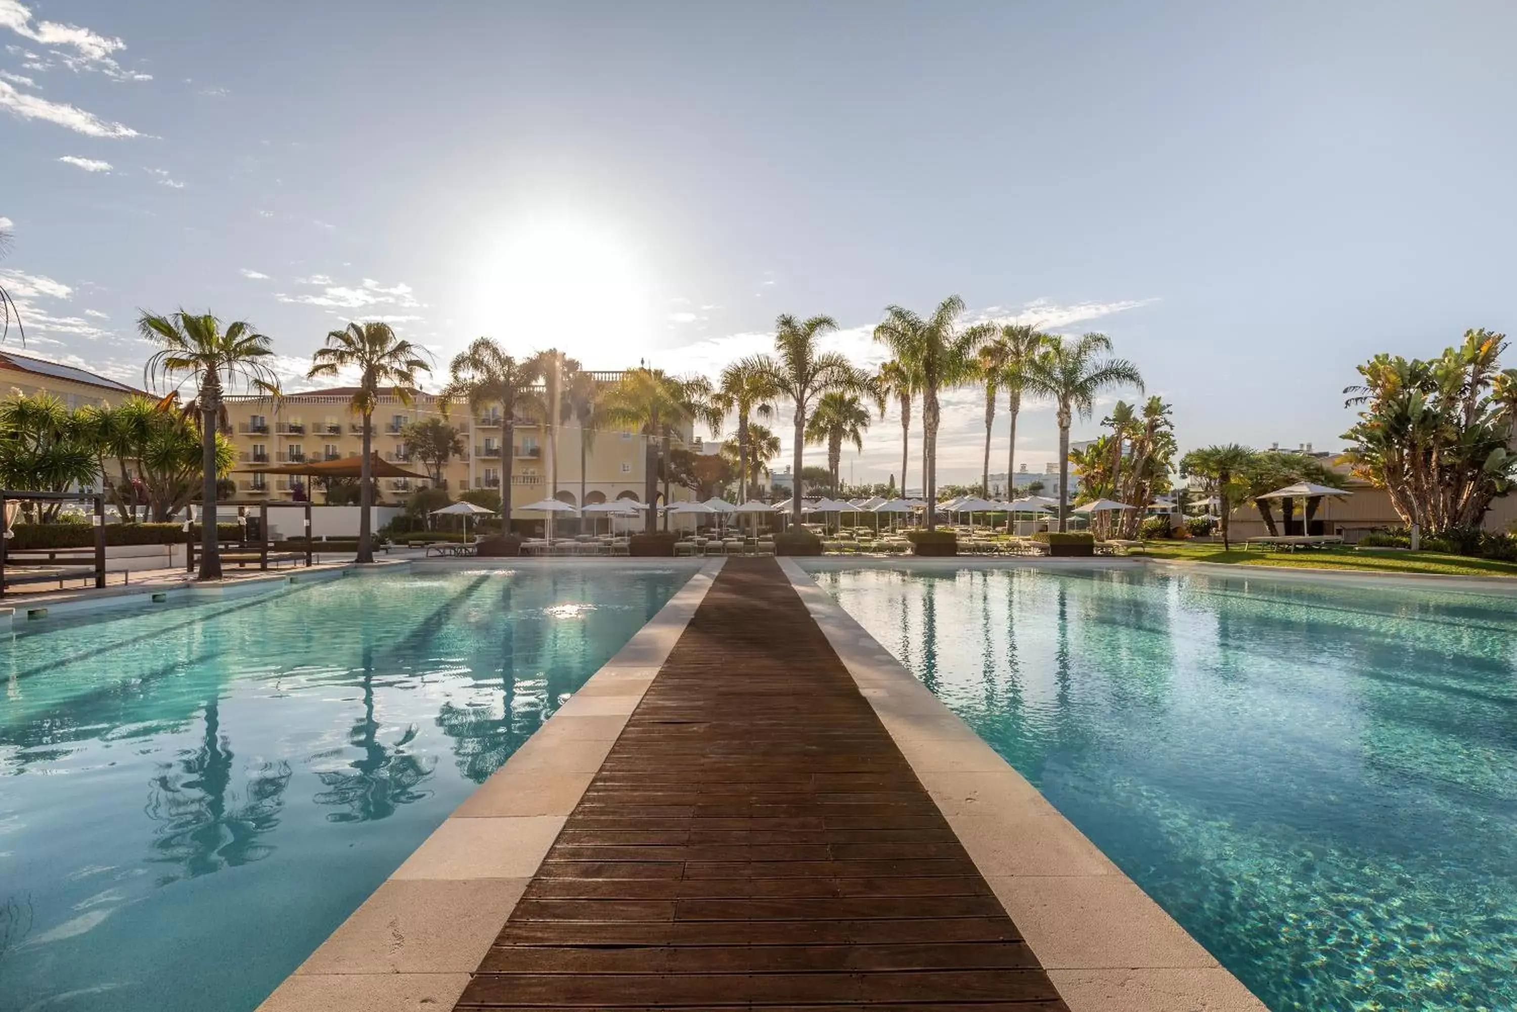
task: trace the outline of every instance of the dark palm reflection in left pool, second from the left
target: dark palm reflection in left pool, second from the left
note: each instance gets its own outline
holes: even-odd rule
[[[328,812],[328,822],[375,822],[394,815],[399,806],[432,794],[417,790],[417,784],[432,775],[432,763],[405,751],[416,737],[414,724],[393,745],[379,742],[381,722],[375,719],[373,680],[373,646],[364,643],[364,715],[347,733],[347,742],[363,756],[350,762],[349,769],[317,774],[326,790],[319,792],[314,801],[344,809]]]

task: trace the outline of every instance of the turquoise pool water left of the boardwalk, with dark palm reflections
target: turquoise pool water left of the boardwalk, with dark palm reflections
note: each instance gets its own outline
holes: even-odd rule
[[[0,1009],[252,1009],[692,572],[23,621],[0,643]]]

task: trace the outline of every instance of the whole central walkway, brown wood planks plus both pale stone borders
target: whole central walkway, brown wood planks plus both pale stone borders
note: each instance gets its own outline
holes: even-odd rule
[[[1264,1006],[789,560],[702,570],[261,1012]]]

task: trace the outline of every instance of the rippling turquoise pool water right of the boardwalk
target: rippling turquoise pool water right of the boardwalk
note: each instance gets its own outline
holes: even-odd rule
[[[1517,599],[807,569],[1274,1012],[1517,1007]]]

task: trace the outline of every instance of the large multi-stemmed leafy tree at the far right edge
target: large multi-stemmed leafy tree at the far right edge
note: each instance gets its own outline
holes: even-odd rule
[[[1376,355],[1349,387],[1359,422],[1344,438],[1353,473],[1384,489],[1408,525],[1431,536],[1481,523],[1511,492],[1517,370],[1502,370],[1506,335],[1465,331],[1431,361]]]

